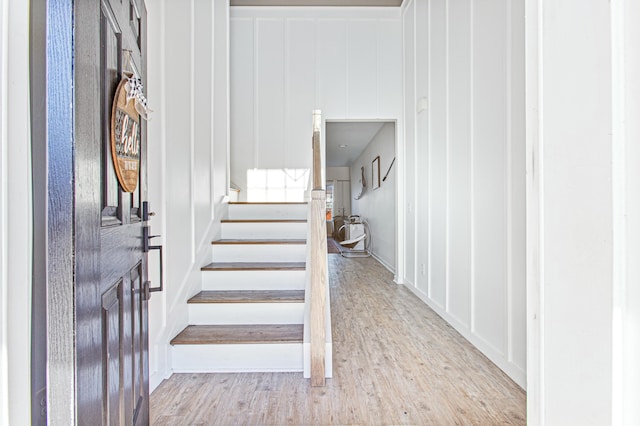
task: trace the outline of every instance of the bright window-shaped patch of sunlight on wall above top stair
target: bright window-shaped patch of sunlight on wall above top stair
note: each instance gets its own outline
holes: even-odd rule
[[[247,170],[247,201],[301,202],[309,184],[309,169]]]

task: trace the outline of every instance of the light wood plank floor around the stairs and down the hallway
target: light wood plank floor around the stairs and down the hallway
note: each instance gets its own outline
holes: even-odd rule
[[[333,379],[174,374],[153,425],[525,424],[525,392],[373,259],[329,255]]]

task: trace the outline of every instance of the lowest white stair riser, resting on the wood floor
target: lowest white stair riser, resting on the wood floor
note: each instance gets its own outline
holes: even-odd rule
[[[175,373],[303,371],[302,343],[175,345]]]

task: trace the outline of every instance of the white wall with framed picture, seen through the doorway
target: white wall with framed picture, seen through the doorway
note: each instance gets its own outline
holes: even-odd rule
[[[387,180],[382,178],[396,155],[395,123],[385,123],[371,139],[362,154],[351,164],[351,193],[362,190],[364,167],[367,189],[360,199],[351,202],[351,214],[365,219],[371,231],[371,254],[391,272],[396,272],[396,168],[391,169]],[[380,187],[373,189],[372,161],[380,157]]]

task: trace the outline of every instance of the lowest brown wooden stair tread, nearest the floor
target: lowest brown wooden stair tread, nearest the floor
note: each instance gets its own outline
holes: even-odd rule
[[[190,325],[171,340],[172,345],[302,343],[302,324]]]

